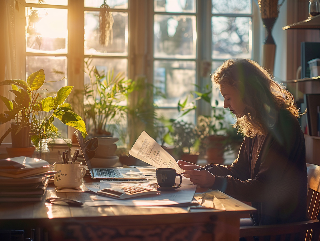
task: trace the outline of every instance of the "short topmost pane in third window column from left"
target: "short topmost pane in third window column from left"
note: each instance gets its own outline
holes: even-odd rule
[[[154,0],[155,12],[196,12],[196,0]]]

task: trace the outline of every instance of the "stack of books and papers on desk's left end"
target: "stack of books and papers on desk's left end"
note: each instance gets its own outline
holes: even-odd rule
[[[37,158],[0,160],[0,202],[41,201],[51,171],[49,163]]]

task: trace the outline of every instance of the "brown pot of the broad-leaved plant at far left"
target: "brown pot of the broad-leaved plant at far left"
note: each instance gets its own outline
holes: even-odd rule
[[[11,123],[11,128],[14,130],[11,132],[11,143],[13,148],[26,148],[31,147],[30,138],[30,125],[22,127],[20,132],[16,134],[20,124]]]

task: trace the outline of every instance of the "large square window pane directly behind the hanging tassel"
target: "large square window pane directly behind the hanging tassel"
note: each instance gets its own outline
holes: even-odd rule
[[[99,12],[84,12],[84,54],[86,55],[128,55],[128,13],[112,12],[112,43],[100,44]]]

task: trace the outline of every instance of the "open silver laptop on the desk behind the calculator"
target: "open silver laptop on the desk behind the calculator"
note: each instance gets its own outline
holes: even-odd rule
[[[92,138],[84,142],[81,133],[75,131],[77,141],[84,162],[88,167],[88,171],[92,179],[100,180],[119,180],[119,181],[147,181],[147,178],[138,168],[92,168],[90,158],[94,157],[95,149],[98,147],[98,138]]]

